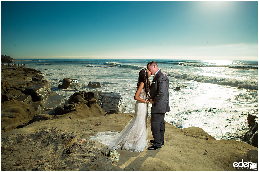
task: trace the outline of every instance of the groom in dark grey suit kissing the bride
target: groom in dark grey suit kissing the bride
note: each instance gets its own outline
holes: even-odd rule
[[[165,112],[170,111],[168,93],[169,79],[168,76],[158,68],[157,63],[154,61],[147,64],[147,69],[151,71],[151,75],[154,75],[150,88],[150,103],[152,103],[151,131],[154,140],[150,140],[153,145],[148,147],[148,149],[156,150],[161,148],[164,144]]]

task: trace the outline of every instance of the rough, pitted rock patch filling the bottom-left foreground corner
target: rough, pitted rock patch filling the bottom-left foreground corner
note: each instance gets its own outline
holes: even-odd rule
[[[6,136],[1,139],[1,171],[112,169],[112,160],[107,157],[107,146],[97,141],[77,139],[76,136],[75,133],[57,128]],[[23,155],[24,151],[27,152],[26,156]],[[9,156],[14,157],[12,161],[8,159]]]

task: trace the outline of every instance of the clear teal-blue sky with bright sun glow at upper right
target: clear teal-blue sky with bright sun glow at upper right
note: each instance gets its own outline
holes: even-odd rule
[[[1,54],[258,60],[258,1],[1,1]]]

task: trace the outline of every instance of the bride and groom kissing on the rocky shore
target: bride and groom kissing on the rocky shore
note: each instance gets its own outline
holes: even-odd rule
[[[154,75],[152,83],[148,79],[151,75]],[[148,147],[146,132],[148,103],[152,103],[151,131],[154,140],[149,140],[153,145],[148,147],[148,150],[161,148],[164,144],[165,113],[170,111],[168,86],[167,75],[158,68],[156,62],[149,62],[147,69],[141,69],[139,72],[137,91],[134,96],[136,100],[134,117],[121,132],[98,132],[96,136],[88,139],[97,140],[107,145],[109,149],[143,151]]]

